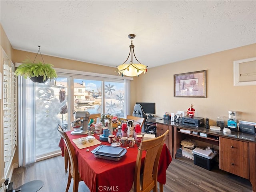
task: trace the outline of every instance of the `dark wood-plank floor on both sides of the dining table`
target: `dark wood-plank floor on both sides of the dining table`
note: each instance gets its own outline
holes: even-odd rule
[[[194,165],[193,160],[184,157],[173,159],[166,175],[164,192],[252,192],[249,180],[219,170],[218,166],[208,171]],[[68,173],[65,173],[62,156],[36,162],[27,168],[14,169],[12,175],[14,188],[32,180],[44,182],[39,192],[64,192]],[[73,183],[69,192],[72,192],[72,186]],[[90,190],[84,182],[80,182],[78,191]]]

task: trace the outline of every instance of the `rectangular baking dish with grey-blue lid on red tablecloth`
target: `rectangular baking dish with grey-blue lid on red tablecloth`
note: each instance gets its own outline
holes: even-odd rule
[[[119,161],[127,152],[126,148],[101,145],[91,151],[95,157]]]

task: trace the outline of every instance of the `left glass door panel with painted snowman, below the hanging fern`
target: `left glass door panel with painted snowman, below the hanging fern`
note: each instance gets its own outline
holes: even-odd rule
[[[67,129],[68,78],[35,84],[36,159],[60,150],[57,126]]]

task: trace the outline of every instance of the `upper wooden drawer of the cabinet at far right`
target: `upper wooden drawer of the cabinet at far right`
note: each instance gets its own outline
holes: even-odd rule
[[[236,156],[249,157],[249,143],[232,139],[223,139],[223,153],[231,153]]]

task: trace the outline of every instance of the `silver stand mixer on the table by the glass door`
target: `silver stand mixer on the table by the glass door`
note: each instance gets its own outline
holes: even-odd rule
[[[75,121],[71,122],[72,135],[84,135],[88,134],[88,120],[90,118],[90,113],[88,111],[77,111],[75,112]]]

